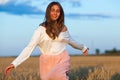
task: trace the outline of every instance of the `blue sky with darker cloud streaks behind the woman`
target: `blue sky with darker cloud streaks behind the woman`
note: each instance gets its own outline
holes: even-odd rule
[[[72,38],[101,53],[120,50],[120,0],[0,0],[0,56],[17,56],[44,21],[47,5],[58,1]],[[67,46],[70,54],[80,54]],[[35,48],[32,55],[39,55]]]

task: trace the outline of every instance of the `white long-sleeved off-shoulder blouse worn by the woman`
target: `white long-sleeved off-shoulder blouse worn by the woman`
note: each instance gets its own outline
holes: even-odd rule
[[[39,47],[42,54],[45,55],[58,55],[66,49],[66,45],[69,44],[73,48],[79,49],[84,52],[87,47],[76,43],[71,39],[68,31],[61,32],[59,37],[52,40],[47,34],[46,29],[43,26],[39,26],[29,44],[23,49],[20,55],[12,62],[17,67],[19,64],[28,59],[36,46]]]

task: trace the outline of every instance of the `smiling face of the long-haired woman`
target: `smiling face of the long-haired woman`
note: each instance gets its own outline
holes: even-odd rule
[[[60,8],[58,5],[53,5],[50,10],[50,18],[55,21],[60,16]]]

